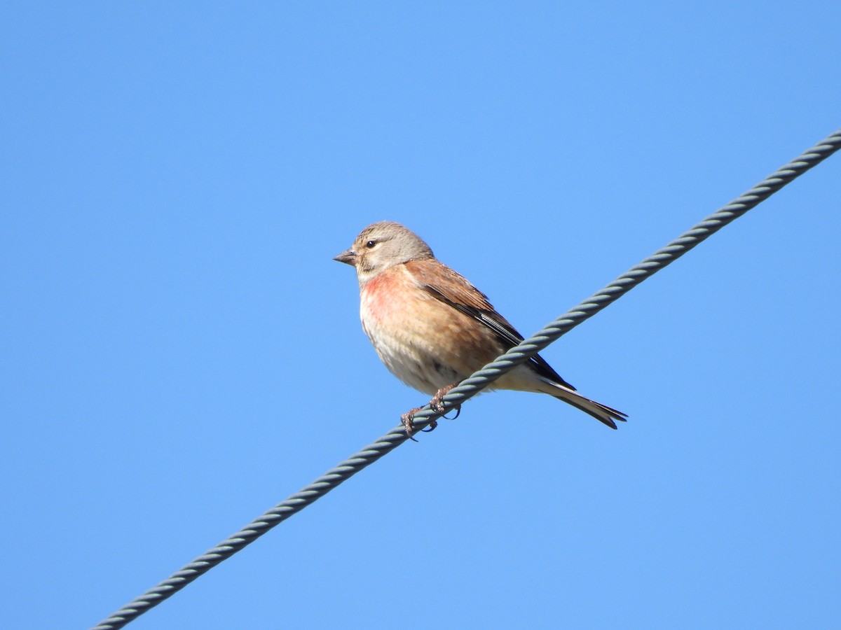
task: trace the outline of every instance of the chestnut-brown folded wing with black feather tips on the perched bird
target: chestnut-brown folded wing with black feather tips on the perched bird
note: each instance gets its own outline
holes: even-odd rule
[[[405,265],[424,291],[489,328],[505,349],[513,348],[523,340],[517,329],[496,312],[482,291],[447,265],[437,260],[411,260]],[[529,363],[538,375],[575,391],[540,354],[532,356]]]

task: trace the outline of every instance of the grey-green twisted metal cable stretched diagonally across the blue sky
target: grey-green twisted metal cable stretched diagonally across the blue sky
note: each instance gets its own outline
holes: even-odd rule
[[[584,300],[584,302],[581,302],[571,311],[566,312],[560,318],[549,323],[545,328],[532,336],[532,338],[526,339],[521,344],[500,356],[493,363],[485,365],[484,368],[471,375],[465,381],[462,381],[458,387],[453,388],[444,397],[445,411],[435,412],[428,405],[424,407],[415,415],[415,427],[426,427],[432,420],[441,417],[448,410],[458,407],[458,405],[468,400],[468,398],[475,396],[484,387],[500,378],[500,376],[509,370],[512,370],[516,365],[520,365],[528,360],[579,323],[591,318],[602,308],[611,304],[611,302],[615,302],[634,286],[637,286],[649,276],[663,269],[664,266],[680,258],[680,256],[701,243],[701,241],[715,234],[719,229],[727,225],[727,223],[741,217],[748,210],[759,205],[760,202],[763,202],[772,194],[779,191],[780,188],[794,181],[798,176],[801,176],[813,166],[826,160],[838,149],[841,149],[841,129],[838,129],[838,131],[813,146],[812,149],[807,150],[795,158],[795,160],[780,168],[779,171],[760,181],[759,184],[751,188],[748,192],[745,192],[741,197],[734,199],[716,213],[705,218],[701,223],[697,223],[689,231],[681,234],[680,237],[674,239],[663,249],[659,249],[659,251],[643,260],[639,265],[634,266],[631,270],[616,278],[615,281],[612,281],[604,289],[598,291],[587,300]],[[391,429],[389,433],[383,435],[383,437],[373,442],[373,444],[368,444],[368,446],[360,450],[357,454],[352,455],[350,459],[346,459],[337,465],[336,468],[328,470],[324,475],[309,484],[309,486],[296,492],[286,501],[278,503],[277,506],[272,507],[265,514],[246,525],[245,528],[242,528],[230,538],[223,540],[213,549],[209,549],[209,551],[182,567],[181,570],[172,574],[167,580],[163,580],[154,588],[151,588],[134,601],[120,608],[119,611],[114,612],[113,615],[103,620],[103,622],[98,623],[94,627],[94,630],[116,630],[116,628],[124,627],[136,617],[140,617],[140,615],[151,607],[157,606],[161,601],[167,599],[167,597],[180,591],[184,586],[198,578],[199,575],[203,575],[216,566],[216,564],[220,564],[223,560],[230,558],[231,555],[243,549],[247,544],[252,543],[262,536],[262,534],[267,533],[268,530],[277,526],[295,512],[299,512],[316,499],[327,494],[327,492],[341,484],[342,481],[357,474],[357,472],[373,464],[373,462],[383,457],[383,455],[396,449],[407,439],[409,437],[406,435],[405,429],[402,426]]]

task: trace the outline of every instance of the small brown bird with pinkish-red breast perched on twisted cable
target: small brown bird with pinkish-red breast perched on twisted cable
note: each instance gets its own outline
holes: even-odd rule
[[[523,337],[463,276],[444,265],[409,228],[392,221],[372,223],[351,249],[333,260],[352,265],[359,281],[362,329],[380,360],[406,385],[442,398],[460,381],[519,344]],[[581,396],[535,354],[501,376],[489,389],[534,391],[569,402],[610,428],[626,415]],[[402,416],[414,432],[417,407]],[[433,421],[430,428],[435,428]]]

